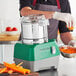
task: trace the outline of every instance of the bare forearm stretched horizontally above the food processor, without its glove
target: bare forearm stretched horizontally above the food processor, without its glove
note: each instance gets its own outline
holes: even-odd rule
[[[31,15],[31,14],[43,14],[46,18],[52,18],[55,12],[51,11],[40,11],[40,10],[32,10],[30,7],[24,7],[20,11],[22,16]]]

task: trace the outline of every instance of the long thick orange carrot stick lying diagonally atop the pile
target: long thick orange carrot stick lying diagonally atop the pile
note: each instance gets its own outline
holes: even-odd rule
[[[14,66],[14,65],[12,65],[12,64],[6,63],[6,62],[4,62],[4,65],[5,65],[7,68],[9,68],[9,69],[11,69],[11,70],[13,70],[13,71],[15,71],[15,72],[19,72],[19,73],[22,73],[22,74],[26,74],[26,72],[28,71],[28,73],[30,73],[30,70],[29,70],[29,69],[20,68],[20,67]]]

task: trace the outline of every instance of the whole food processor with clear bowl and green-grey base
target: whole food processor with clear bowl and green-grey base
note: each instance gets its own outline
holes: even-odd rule
[[[58,67],[60,51],[55,39],[48,39],[48,19],[44,15],[23,16],[22,40],[14,46],[14,61],[23,62],[32,72]]]

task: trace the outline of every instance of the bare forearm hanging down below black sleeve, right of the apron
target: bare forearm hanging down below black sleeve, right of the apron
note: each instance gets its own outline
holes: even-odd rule
[[[61,40],[63,41],[63,43],[66,45],[69,43],[69,41],[73,40],[73,37],[70,32],[61,33],[60,37],[61,37]]]

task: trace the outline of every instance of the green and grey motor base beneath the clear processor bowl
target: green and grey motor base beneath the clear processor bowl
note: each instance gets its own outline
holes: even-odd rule
[[[60,51],[55,39],[34,45],[16,43],[14,47],[15,63],[24,62],[22,66],[32,72],[49,69],[53,66],[57,68],[59,55]]]

